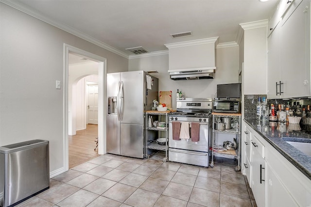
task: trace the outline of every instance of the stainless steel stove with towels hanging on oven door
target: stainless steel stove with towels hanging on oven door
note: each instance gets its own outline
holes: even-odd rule
[[[208,148],[211,141],[212,99],[193,98],[178,100],[176,112],[169,115],[169,160],[208,167]],[[199,123],[199,141],[173,139],[173,122]],[[187,124],[188,124],[187,123]],[[191,131],[191,130],[190,130]],[[175,132],[174,132],[175,133]]]

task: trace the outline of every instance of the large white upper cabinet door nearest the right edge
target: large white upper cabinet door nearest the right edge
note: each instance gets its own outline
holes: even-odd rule
[[[282,21],[280,80],[284,98],[310,95],[310,9],[306,3],[299,4],[292,15]]]

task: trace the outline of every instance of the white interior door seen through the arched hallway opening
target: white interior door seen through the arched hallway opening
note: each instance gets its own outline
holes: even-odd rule
[[[98,124],[98,85],[88,85],[88,123]]]

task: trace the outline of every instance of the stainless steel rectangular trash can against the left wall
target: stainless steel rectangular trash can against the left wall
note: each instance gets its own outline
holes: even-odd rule
[[[49,141],[0,147],[0,207],[15,206],[49,187]]]

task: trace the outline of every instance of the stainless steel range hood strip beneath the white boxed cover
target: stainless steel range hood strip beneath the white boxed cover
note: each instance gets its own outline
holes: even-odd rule
[[[173,69],[168,70],[170,78],[174,81],[179,80],[201,80],[213,79],[216,67],[194,68],[194,69]]]

